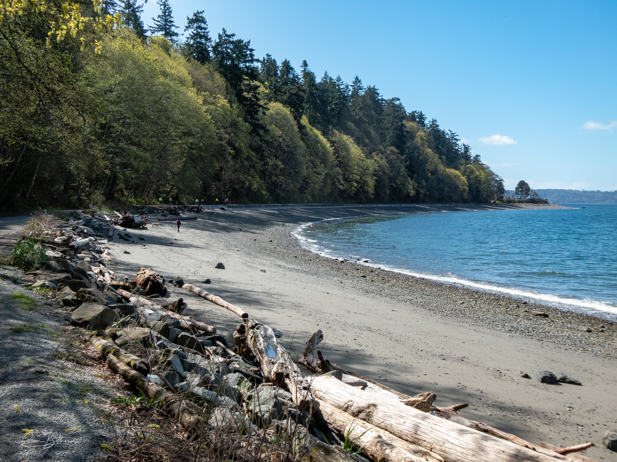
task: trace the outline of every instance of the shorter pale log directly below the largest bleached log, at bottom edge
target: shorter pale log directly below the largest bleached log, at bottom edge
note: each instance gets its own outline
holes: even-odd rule
[[[378,462],[444,462],[444,459],[420,446],[366,424],[333,405],[322,401],[320,409],[330,428],[361,447],[362,452]]]

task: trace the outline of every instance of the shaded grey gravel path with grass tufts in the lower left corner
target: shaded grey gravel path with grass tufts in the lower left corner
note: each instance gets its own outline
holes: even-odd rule
[[[20,272],[0,275],[0,461],[104,458],[114,434],[102,408],[116,395],[108,374],[80,364],[57,302],[10,282]]]

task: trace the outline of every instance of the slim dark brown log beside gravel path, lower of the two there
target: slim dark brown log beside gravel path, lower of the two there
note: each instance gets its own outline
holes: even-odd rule
[[[140,389],[151,399],[160,399],[165,403],[165,408],[170,412],[187,431],[195,431],[199,425],[197,417],[182,400],[165,391],[158,385],[149,383],[139,372],[134,371],[125,363],[120,362],[114,355],[107,356],[107,367],[122,376],[132,386]]]

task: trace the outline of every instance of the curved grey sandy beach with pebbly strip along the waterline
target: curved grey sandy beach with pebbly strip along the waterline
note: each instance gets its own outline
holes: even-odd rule
[[[500,213],[435,207],[484,208]],[[405,394],[433,391],[436,405],[468,402],[466,418],[537,444],[593,442],[586,455],[617,462],[617,453],[602,445],[604,432],[617,428],[616,323],[326,259],[291,235],[300,224],[326,218],[416,211],[431,206],[208,211],[183,221],[180,233],[173,221],[128,230],[130,241],[109,243],[110,268],[118,277],[132,278],[140,266],[166,279],[181,276],[282,331],[281,342],[296,352],[321,329],[323,354],[339,367]],[[215,269],[218,262],[224,270]],[[171,298],[188,302],[186,314],[223,335],[238,325],[230,312],[168,288]],[[549,317],[532,316],[534,310]],[[535,376],[543,370],[583,386],[539,383]],[[523,372],[532,379],[521,378]]]

